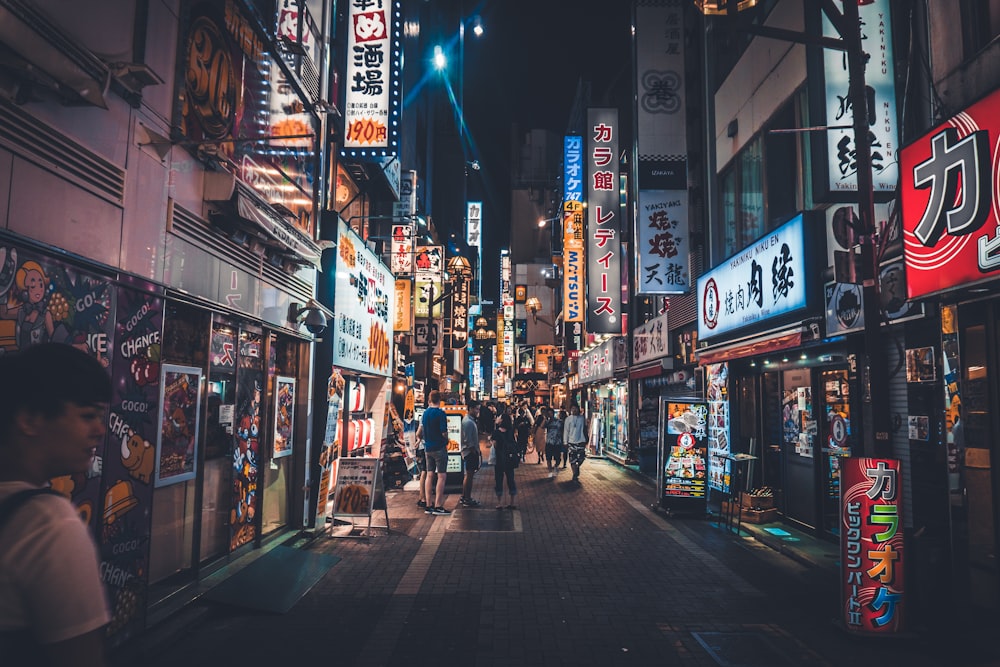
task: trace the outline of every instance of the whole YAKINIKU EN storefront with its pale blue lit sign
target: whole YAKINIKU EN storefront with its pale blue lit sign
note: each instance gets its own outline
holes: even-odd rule
[[[853,379],[843,343],[819,335],[809,229],[796,216],[698,280],[709,488],[770,492],[787,520],[836,534]]]

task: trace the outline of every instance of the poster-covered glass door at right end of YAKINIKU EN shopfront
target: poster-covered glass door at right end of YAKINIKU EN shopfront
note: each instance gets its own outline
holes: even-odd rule
[[[823,399],[820,420],[820,480],[823,486],[823,530],[840,534],[840,462],[851,455],[851,393],[847,369],[825,370],[819,374]]]

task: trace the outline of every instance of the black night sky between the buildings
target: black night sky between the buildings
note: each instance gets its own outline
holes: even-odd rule
[[[612,86],[630,89],[631,2],[483,0],[466,13],[478,13],[485,28],[478,39],[466,33],[465,114],[482,164],[474,177],[486,210],[483,295],[490,298],[498,249],[509,242],[509,228],[498,223],[509,217],[511,127],[564,134],[581,77],[595,104]]]

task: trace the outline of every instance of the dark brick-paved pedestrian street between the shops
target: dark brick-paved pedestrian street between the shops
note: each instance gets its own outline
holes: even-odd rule
[[[668,518],[650,508],[652,483],[613,463],[588,460],[581,484],[544,465],[517,480],[514,511],[493,508],[490,467],[476,479],[486,509],[434,517],[415,491],[390,492],[388,534],[302,547],[342,560],[288,613],[195,600],[178,615],[190,622],[154,628],[116,664],[994,664],[974,656],[988,635],[845,635],[832,559],[811,565],[710,520]]]

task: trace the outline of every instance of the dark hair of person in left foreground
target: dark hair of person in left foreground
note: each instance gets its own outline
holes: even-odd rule
[[[0,433],[7,432],[20,410],[57,417],[67,403],[110,401],[108,371],[75,347],[42,343],[0,355]]]

